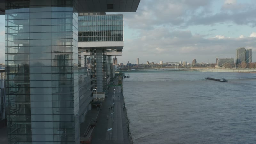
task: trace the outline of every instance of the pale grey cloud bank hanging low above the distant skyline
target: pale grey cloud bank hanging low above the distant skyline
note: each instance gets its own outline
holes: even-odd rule
[[[158,36],[161,37],[157,38]],[[206,38],[200,34],[192,35],[190,31],[168,31],[164,28],[157,28],[141,31],[138,38],[126,40],[122,57],[118,60],[123,62],[129,60],[131,63],[136,63],[137,58],[141,63],[146,63],[147,60],[168,62],[183,59],[188,62],[193,59],[198,62],[208,60],[214,62],[216,57],[235,57],[238,47],[250,47],[256,51],[256,46],[253,45],[255,41],[256,37],[230,38],[217,35],[213,38]]]

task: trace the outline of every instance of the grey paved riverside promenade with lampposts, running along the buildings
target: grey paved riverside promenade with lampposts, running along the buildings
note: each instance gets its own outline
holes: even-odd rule
[[[108,98],[102,104],[97,125],[92,134],[92,144],[130,144],[123,109],[124,96],[120,86],[116,86],[115,94],[113,89],[114,87],[109,88]],[[115,103],[114,108],[111,108],[113,103]],[[112,130],[107,131],[110,128]]]

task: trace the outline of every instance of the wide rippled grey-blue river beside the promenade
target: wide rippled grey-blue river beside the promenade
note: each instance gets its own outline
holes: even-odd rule
[[[126,74],[124,99],[135,144],[256,143],[256,74]]]

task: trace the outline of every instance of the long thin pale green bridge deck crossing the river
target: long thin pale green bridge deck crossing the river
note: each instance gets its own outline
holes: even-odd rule
[[[143,71],[201,71],[201,72],[256,72],[255,68],[251,69],[158,69],[158,70],[122,70],[116,72],[143,72]]]

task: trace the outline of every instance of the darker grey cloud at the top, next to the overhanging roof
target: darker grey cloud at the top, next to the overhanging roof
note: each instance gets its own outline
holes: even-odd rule
[[[210,0],[155,0],[140,1],[136,13],[124,13],[125,25],[129,28],[152,29],[158,26],[186,25],[191,15],[209,11]]]

